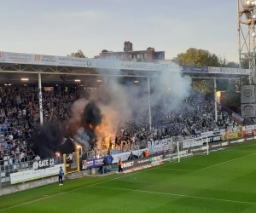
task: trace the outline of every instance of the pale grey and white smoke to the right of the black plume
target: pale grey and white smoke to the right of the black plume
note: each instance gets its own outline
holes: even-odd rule
[[[135,118],[141,123],[149,123],[148,78],[102,78],[102,83],[97,94],[90,98],[97,100],[108,122],[105,125],[108,132],[115,131],[121,120]],[[183,77],[179,69],[158,72],[150,78],[150,107],[153,111],[161,107],[170,112],[182,105],[183,99],[189,96],[190,88],[191,78]]]

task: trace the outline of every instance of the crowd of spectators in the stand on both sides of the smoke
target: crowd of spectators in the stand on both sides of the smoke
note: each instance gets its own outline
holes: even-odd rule
[[[88,91],[87,91],[88,92]],[[66,125],[71,118],[73,101],[84,97],[79,90],[43,89],[44,122],[61,121]],[[9,156],[9,164],[36,157],[26,141],[33,127],[40,123],[38,89],[12,88],[0,90],[0,162]],[[145,146],[148,140],[171,136],[196,135],[204,131],[225,128],[228,115],[224,113],[214,121],[214,107],[200,95],[191,94],[183,100],[182,107],[169,109],[170,102],[160,102],[151,107],[152,128],[149,127],[148,109],[135,113],[129,120],[120,121],[109,147]],[[226,118],[225,118],[226,116]],[[3,161],[2,163],[3,164]]]

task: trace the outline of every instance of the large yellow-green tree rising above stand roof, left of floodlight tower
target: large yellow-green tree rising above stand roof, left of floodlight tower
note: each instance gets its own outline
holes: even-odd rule
[[[219,66],[218,56],[208,50],[189,48],[185,53],[177,55],[183,65],[190,66]]]

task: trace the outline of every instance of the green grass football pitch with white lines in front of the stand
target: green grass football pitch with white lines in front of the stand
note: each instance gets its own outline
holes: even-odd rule
[[[255,213],[256,142],[134,173],[86,176],[2,196],[0,212]]]

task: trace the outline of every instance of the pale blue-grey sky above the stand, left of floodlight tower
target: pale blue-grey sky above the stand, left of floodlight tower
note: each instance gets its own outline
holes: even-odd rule
[[[0,50],[67,55],[190,47],[238,61],[236,0],[2,0]]]

